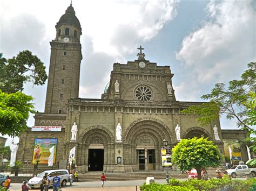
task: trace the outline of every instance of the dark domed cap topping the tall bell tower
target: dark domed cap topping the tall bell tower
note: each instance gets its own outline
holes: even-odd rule
[[[60,17],[59,22],[57,23],[56,27],[60,26],[61,24],[70,24],[70,25],[75,25],[77,26],[79,29],[81,29],[81,25],[80,22],[78,20],[78,18],[75,15],[75,10],[72,7],[72,5],[70,5],[68,7],[68,9],[66,9],[66,13]]]

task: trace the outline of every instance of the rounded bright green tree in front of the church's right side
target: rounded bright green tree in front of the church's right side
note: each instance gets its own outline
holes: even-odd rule
[[[207,138],[182,139],[172,148],[172,162],[177,164],[181,171],[195,168],[198,179],[201,179],[203,168],[218,167],[220,160],[219,149]]]

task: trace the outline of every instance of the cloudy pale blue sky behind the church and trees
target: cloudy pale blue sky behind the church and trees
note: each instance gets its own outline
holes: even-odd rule
[[[100,98],[113,63],[136,60],[142,45],[146,60],[170,66],[178,101],[202,101],[200,96],[210,93],[215,83],[240,79],[247,63],[255,61],[255,4],[253,0],[73,0],[83,32],[79,97]],[[0,0],[0,52],[11,58],[28,49],[48,72],[49,42],[69,5],[69,0]],[[46,84],[24,86],[39,112],[44,112]],[[28,125],[33,123],[30,116]],[[220,123],[221,129],[236,129],[235,121],[225,117]]]

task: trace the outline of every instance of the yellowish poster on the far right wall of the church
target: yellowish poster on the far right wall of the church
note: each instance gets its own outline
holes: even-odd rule
[[[232,161],[241,161],[242,154],[241,154],[241,147],[239,140],[237,139],[223,139],[224,142],[224,155],[227,158],[230,158],[230,152],[228,151],[228,146],[230,146],[232,150]]]

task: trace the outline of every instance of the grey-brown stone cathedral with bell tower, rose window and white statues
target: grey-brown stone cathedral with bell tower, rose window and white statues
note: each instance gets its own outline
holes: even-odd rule
[[[147,60],[142,46],[134,61],[113,63],[100,99],[79,98],[81,35],[71,4],[50,42],[45,110],[36,113],[35,126],[19,139],[17,160],[25,168],[33,164],[52,168],[48,159],[53,155],[54,168],[72,162],[79,173],[159,171],[164,139],[172,148],[180,139],[201,136],[212,140],[225,156],[229,156],[225,145],[232,147],[234,161],[248,160],[242,143],[246,131],[221,130],[219,120],[200,126],[199,116],[181,114],[202,102],[177,101],[170,66]]]

